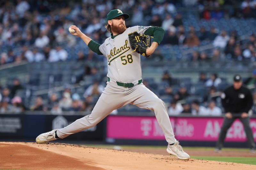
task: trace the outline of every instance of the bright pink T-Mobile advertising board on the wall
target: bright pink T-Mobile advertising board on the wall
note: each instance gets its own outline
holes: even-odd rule
[[[221,117],[173,117],[170,120],[176,139],[189,141],[216,141],[223,122]],[[256,140],[256,118],[251,118],[250,125]],[[108,116],[107,138],[165,139],[154,116]],[[225,141],[246,141],[244,127],[239,119],[228,130]]]

